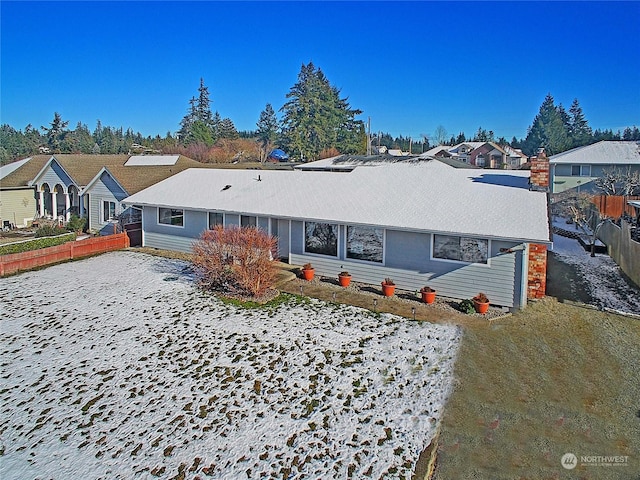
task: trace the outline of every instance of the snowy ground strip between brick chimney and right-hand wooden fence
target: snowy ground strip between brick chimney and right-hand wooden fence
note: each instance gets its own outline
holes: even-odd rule
[[[554,219],[553,224],[564,230],[578,231],[563,219]],[[577,240],[557,234],[553,236],[553,254],[558,260],[576,267],[596,306],[640,314],[640,290],[622,277],[620,267],[609,255],[598,253],[591,257]]]

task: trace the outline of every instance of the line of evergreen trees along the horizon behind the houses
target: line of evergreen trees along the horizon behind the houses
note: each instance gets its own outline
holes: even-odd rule
[[[523,139],[496,138],[492,130],[482,127],[473,136],[460,132],[449,137],[441,125],[431,138],[424,134],[419,139],[403,135],[393,137],[383,132],[370,135],[365,131],[364,122],[356,119],[362,110],[352,108],[348,98],[341,98],[340,90],[331,85],[312,62],[302,65],[297,82],[287,93],[279,112],[280,119],[273,106],[267,103],[260,112],[255,130],[238,131],[230,118],[212,112],[209,89],[200,79],[198,96],[189,100],[187,113],[176,134],[168,131],[164,137],[144,137],[131,128],[103,126],[100,120],[93,132],[82,122],[70,130],[69,122],[55,112],[49,126],[40,129],[27,125],[22,131],[8,124],[1,125],[0,165],[37,153],[180,153],[201,162],[263,162],[269,151],[276,147],[286,151],[292,159],[312,161],[338,154],[365,154],[368,142],[372,146],[411,153],[422,153],[436,145],[495,142],[521,149],[531,156],[540,147],[544,147],[548,155],[554,155],[601,140],[640,140],[640,130],[636,126],[627,127],[623,132],[592,130],[578,99],[574,99],[566,111],[562,104],[555,104],[550,93]]]

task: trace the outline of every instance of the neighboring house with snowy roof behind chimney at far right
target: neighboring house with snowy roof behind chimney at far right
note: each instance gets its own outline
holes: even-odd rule
[[[593,192],[593,181],[607,170],[617,168],[640,172],[640,143],[601,141],[558,153],[549,158],[551,193],[575,189]]]

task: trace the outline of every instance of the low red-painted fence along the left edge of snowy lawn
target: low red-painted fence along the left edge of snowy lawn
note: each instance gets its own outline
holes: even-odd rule
[[[126,233],[117,233],[104,237],[93,237],[75,242],[67,242],[55,247],[41,248],[29,252],[0,255],[0,277],[22,270],[65,262],[74,258],[88,257],[99,253],[120,250],[129,247]]]

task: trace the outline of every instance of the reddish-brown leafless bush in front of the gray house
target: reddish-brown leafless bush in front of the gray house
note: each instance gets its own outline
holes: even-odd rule
[[[207,230],[193,245],[193,265],[200,285],[238,298],[261,298],[273,287],[276,240],[257,228]]]

